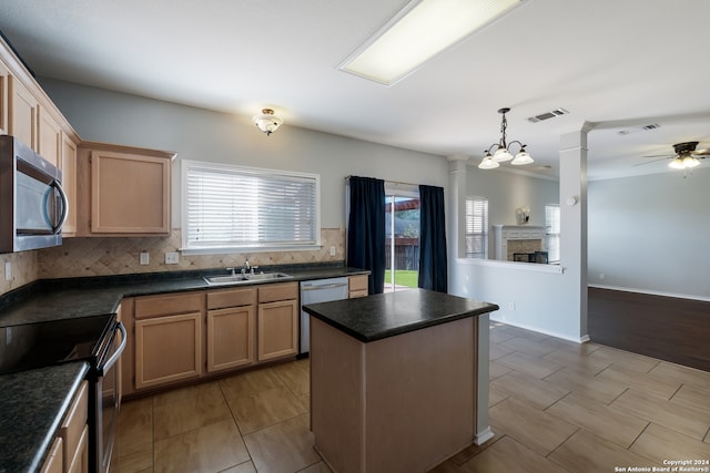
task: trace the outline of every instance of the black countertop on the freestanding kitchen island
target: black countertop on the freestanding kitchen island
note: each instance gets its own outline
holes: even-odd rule
[[[495,304],[424,289],[303,306],[311,316],[365,343],[498,308]]]

